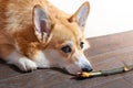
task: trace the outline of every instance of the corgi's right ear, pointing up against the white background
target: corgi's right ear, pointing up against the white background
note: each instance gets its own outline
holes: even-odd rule
[[[84,2],[78,11],[69,19],[70,22],[78,22],[80,28],[83,30],[85,26],[85,21],[90,12],[90,3]]]

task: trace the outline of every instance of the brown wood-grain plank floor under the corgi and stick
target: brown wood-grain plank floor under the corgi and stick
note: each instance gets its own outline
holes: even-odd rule
[[[85,55],[94,70],[111,69],[133,64],[133,31],[89,38],[91,48]],[[124,63],[123,63],[124,62]],[[133,88],[133,72],[90,79],[55,69],[21,73],[0,61],[0,88]]]

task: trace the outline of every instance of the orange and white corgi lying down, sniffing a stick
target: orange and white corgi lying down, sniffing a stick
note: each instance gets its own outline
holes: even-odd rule
[[[83,54],[90,47],[83,34],[89,12],[88,1],[68,14],[48,0],[0,0],[0,58],[22,72],[91,72]]]

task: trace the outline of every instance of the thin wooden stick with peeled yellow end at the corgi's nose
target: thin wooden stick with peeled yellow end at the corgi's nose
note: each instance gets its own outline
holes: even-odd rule
[[[95,77],[95,76],[109,76],[109,75],[114,75],[114,74],[121,74],[121,73],[126,73],[133,70],[133,65],[125,65],[124,67],[120,67],[120,68],[113,68],[113,69],[109,69],[109,70],[98,70],[98,72],[82,72],[82,73],[78,73],[78,77],[81,78],[90,78],[90,77]]]

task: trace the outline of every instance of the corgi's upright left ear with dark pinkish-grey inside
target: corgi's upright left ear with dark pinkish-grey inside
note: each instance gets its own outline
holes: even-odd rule
[[[40,42],[47,42],[50,34],[51,21],[47,12],[40,6],[35,6],[33,9],[33,24],[38,40]]]

